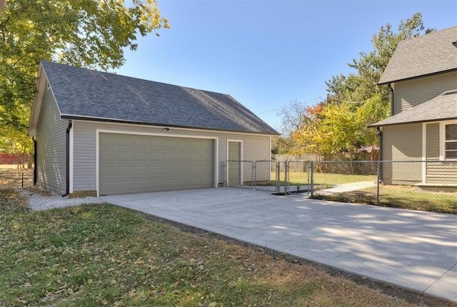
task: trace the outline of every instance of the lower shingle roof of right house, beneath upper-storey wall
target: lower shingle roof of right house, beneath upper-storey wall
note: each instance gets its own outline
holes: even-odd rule
[[[378,121],[376,124],[371,125],[371,127],[443,121],[448,119],[457,119],[457,89],[445,91],[434,99],[383,121]]]

